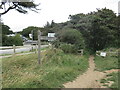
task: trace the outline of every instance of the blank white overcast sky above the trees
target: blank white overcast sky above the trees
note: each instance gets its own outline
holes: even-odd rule
[[[118,1],[120,0],[35,0],[36,3],[41,3],[39,13],[29,11],[28,14],[21,14],[11,10],[2,16],[2,20],[12,31],[22,31],[28,26],[43,27],[47,21],[65,22],[69,15],[86,14],[96,11],[96,8],[106,7],[118,13]]]

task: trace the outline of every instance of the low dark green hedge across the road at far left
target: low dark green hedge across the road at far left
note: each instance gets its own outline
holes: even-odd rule
[[[2,35],[2,46],[21,46],[23,45],[22,38],[19,34],[14,37],[7,37],[6,35]]]

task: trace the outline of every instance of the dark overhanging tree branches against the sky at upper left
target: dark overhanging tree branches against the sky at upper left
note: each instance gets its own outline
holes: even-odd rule
[[[27,1],[28,2],[23,2],[22,0],[16,0],[16,2],[15,1],[12,2],[9,0],[2,0],[2,2],[0,2],[0,9],[2,9],[3,12],[0,13],[0,16],[6,14],[7,12],[9,12],[12,9],[15,9],[18,12],[24,13],[24,14],[26,14],[28,12],[27,9],[30,9],[35,12],[37,12],[37,10],[39,10],[39,9],[37,9],[37,6],[39,6],[39,5],[36,5],[33,2],[33,0],[27,0]]]

